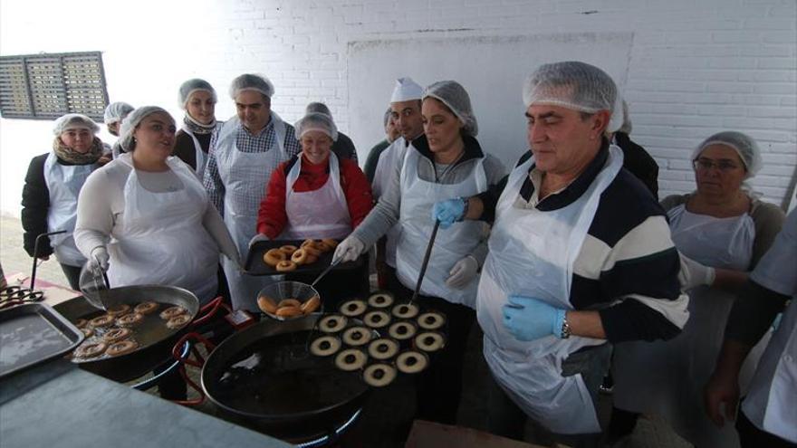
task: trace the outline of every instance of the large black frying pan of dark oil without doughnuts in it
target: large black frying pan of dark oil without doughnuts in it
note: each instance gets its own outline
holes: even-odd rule
[[[291,440],[331,434],[360,409],[370,390],[360,373],[307,351],[320,316],[264,320],[213,350],[202,388],[226,419]]]

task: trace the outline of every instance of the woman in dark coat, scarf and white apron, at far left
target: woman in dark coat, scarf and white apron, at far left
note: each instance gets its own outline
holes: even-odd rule
[[[22,194],[24,249],[34,258],[47,260],[55,253],[72,290],[78,290],[81,266],[86,258],[75,246],[72,232],[77,219],[78,195],[91,172],[99,168],[103,145],[94,121],[81,114],[67,114],[55,121],[53,150],[34,157],[25,176]],[[34,253],[36,237],[55,231]]]

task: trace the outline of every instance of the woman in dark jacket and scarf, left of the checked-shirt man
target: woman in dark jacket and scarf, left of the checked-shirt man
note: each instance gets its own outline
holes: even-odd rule
[[[216,121],[216,91],[205,80],[188,80],[180,86],[178,101],[186,116],[175,136],[172,155],[194,168],[201,179],[205,173],[210,140],[223,124]]]

